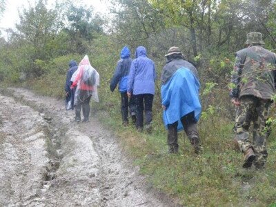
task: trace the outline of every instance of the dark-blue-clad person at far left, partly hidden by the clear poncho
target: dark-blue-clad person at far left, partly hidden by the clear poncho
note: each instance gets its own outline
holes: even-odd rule
[[[64,86],[64,90],[66,92],[66,110],[74,109],[74,90],[70,87],[72,85],[71,77],[74,72],[77,70],[77,62],[75,60],[71,60],[69,62],[69,69],[66,75],[66,83]]]

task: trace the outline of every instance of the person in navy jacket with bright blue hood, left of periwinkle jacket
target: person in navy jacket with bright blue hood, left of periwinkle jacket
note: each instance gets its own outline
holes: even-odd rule
[[[121,117],[124,126],[128,125],[128,108],[130,109],[130,116],[132,123],[136,122],[136,104],[135,97],[132,96],[128,99],[127,83],[128,74],[130,72],[132,59],[130,58],[130,50],[127,46],[121,50],[121,59],[117,62],[114,75],[110,81],[110,90],[113,92],[119,83],[119,92],[121,93]]]

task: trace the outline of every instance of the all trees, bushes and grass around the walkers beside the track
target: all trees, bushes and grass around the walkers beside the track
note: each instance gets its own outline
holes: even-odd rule
[[[2,3],[3,2],[3,3]],[[0,1],[0,14],[6,1]],[[262,32],[266,48],[275,52],[275,1],[257,0],[112,0],[112,18],[70,0],[52,8],[37,0],[20,10],[16,30],[0,39],[1,86],[23,86],[63,98],[71,59],[90,57],[100,75],[99,103],[92,112],[115,130],[124,150],[140,166],[149,184],[183,206],[269,206],[276,204],[275,130],[268,138],[268,163],[263,170],[242,169],[242,153],[233,141],[235,108],[228,97],[234,52],[246,33]],[[162,122],[159,79],[153,108],[153,132],[139,133],[121,125],[119,92],[109,83],[121,48],[143,45],[160,77],[164,55],[179,46],[199,70],[203,112],[199,121],[202,152],[195,155],[184,132],[180,152],[168,155]],[[6,86],[6,85],[5,85]],[[275,119],[275,108],[271,115]]]

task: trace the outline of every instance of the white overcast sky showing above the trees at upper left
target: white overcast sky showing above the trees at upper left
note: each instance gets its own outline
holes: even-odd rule
[[[6,11],[3,13],[3,17],[0,19],[0,30],[3,34],[3,30],[6,28],[15,28],[15,23],[19,22],[18,8],[24,6],[28,8],[30,2],[34,3],[35,0],[6,0]],[[108,3],[107,0],[79,0],[82,2],[82,5],[93,6],[96,12],[107,14],[108,8],[106,5]],[[48,5],[52,5],[55,0],[48,0]]]

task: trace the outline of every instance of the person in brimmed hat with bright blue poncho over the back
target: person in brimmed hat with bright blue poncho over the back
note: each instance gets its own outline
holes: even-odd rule
[[[167,63],[161,74],[161,104],[164,125],[168,128],[168,152],[178,152],[177,132],[184,129],[198,153],[197,121],[201,115],[201,104],[197,69],[184,60],[178,47],[171,47],[165,57]]]

